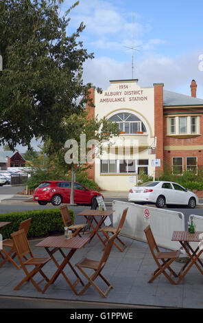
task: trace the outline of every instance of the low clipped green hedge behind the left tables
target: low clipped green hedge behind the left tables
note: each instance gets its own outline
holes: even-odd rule
[[[73,210],[69,210],[71,219],[75,219]],[[11,222],[1,230],[3,239],[10,238],[12,232],[19,230],[21,221],[32,218],[27,238],[36,238],[50,233],[64,232],[64,224],[59,209],[32,210],[0,214],[0,221]]]

